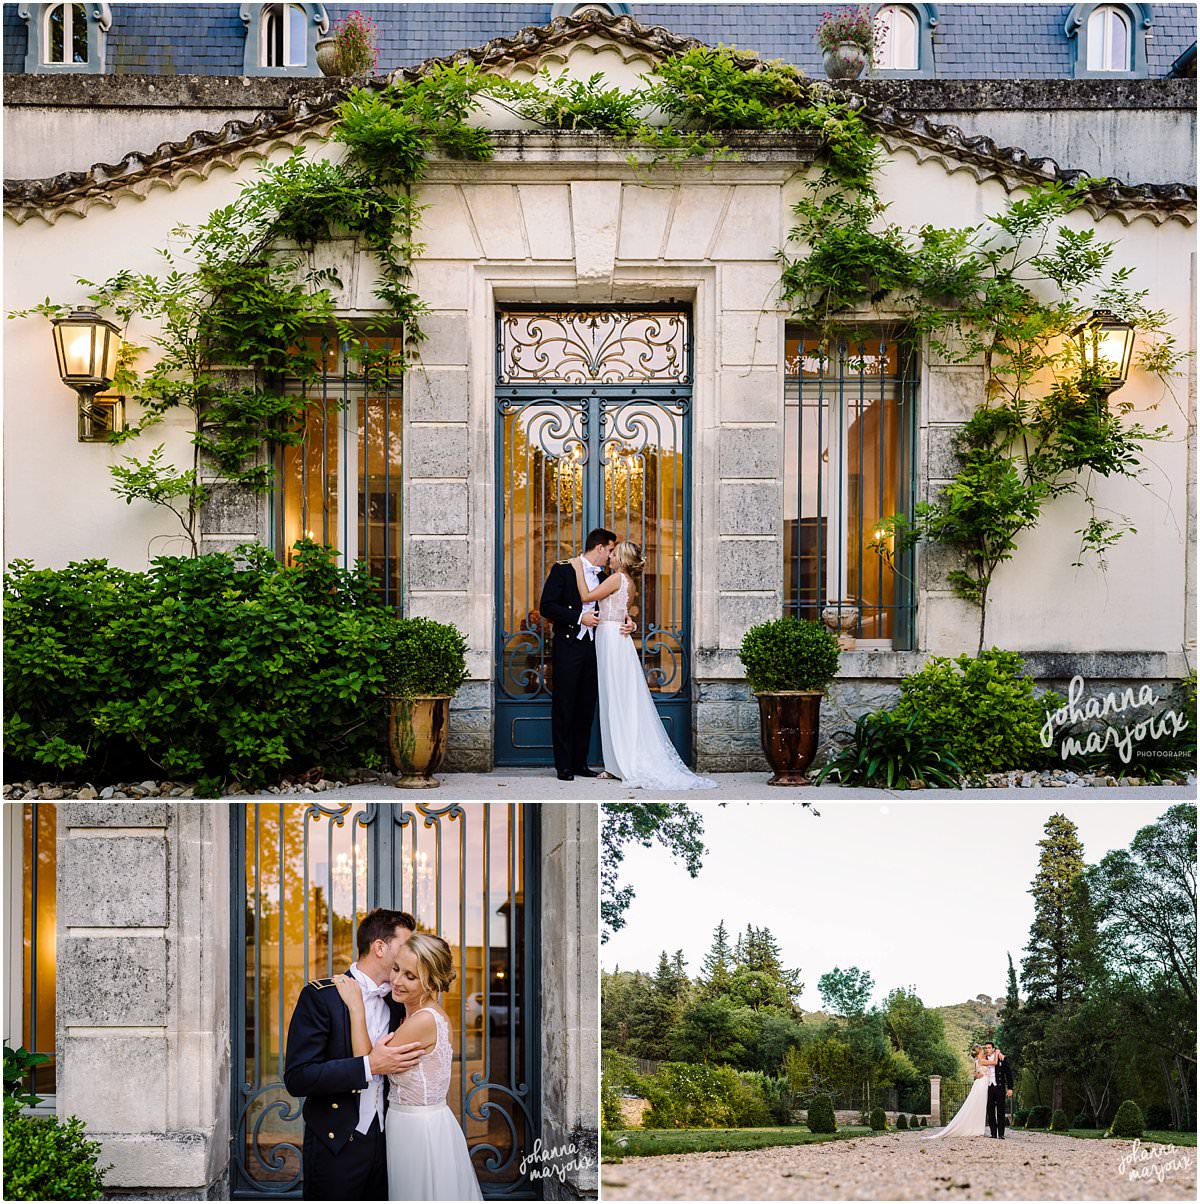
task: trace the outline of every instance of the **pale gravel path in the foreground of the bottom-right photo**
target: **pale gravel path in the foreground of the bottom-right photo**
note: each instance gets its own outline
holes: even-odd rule
[[[1124,1159],[1124,1161],[1123,1161]],[[673,1153],[601,1168],[601,1196],[632,1199],[1195,1199],[1196,1151],[1018,1132],[887,1133],[740,1153]],[[1161,1178],[1161,1182],[1159,1182]]]

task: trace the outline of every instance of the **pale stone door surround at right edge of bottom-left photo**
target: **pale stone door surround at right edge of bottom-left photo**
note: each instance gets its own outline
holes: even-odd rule
[[[542,824],[542,1146],[563,1150],[545,1199],[595,1199],[599,1133],[599,808],[544,803]],[[540,1165],[534,1163],[534,1169]]]

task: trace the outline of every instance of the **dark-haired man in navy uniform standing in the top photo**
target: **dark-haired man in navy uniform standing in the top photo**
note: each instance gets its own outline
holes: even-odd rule
[[[616,547],[616,536],[604,527],[587,532],[584,542],[584,577],[590,590],[601,583],[608,557]],[[575,584],[575,569],[569,560],[555,563],[538,603],[542,615],[554,624],[554,701],[550,704],[550,736],[554,742],[554,767],[560,781],[595,778],[587,767],[587,745],[596,718],[596,626],[599,618],[595,602],[583,602]],[[631,619],[621,633],[632,635],[637,625]]]

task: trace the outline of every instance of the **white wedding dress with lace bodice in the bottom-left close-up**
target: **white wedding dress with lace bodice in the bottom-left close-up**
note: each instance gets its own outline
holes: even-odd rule
[[[437,1044],[412,1070],[388,1075],[388,1199],[483,1199],[467,1139],[445,1102],[454,1061],[450,1023],[435,1008],[420,1010],[433,1013]]]

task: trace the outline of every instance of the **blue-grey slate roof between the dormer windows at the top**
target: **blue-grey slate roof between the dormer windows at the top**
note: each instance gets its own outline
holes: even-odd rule
[[[354,8],[379,28],[383,71],[414,66],[544,25],[549,4],[327,4],[332,20]],[[845,7],[829,5],[830,8]],[[934,58],[944,79],[1064,79],[1071,77],[1071,46],[1063,31],[1069,4],[941,4]],[[826,5],[818,4],[637,4],[643,25],[664,25],[708,45],[725,42],[781,58],[821,76],[814,42]],[[1161,78],[1196,40],[1192,4],[1153,5],[1147,43],[1149,76]],[[146,75],[240,75],[244,26],[237,4],[114,4],[108,34],[110,70]],[[25,23],[14,4],[4,5],[4,70],[24,70]]]

